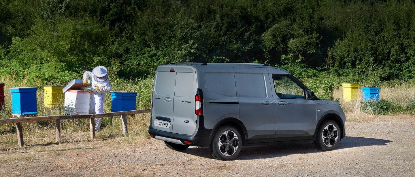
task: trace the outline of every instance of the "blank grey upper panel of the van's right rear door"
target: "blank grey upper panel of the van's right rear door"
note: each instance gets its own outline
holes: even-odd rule
[[[177,72],[174,96],[192,96],[196,91],[194,77],[195,74],[191,72]]]

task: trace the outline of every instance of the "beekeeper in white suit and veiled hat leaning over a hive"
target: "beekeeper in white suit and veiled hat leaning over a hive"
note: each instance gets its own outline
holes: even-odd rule
[[[91,78],[91,86],[94,88],[98,94],[92,94],[91,96],[91,105],[89,107],[90,114],[98,114],[104,112],[104,92],[110,92],[111,86],[110,81],[108,81],[107,68],[103,66],[97,66],[92,69],[92,72],[85,71],[83,73],[83,84],[88,84],[88,77]],[[101,118],[95,119],[95,131],[98,131],[101,128]]]

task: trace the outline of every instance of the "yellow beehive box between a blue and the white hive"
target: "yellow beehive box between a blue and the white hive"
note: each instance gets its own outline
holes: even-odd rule
[[[63,104],[64,94],[62,89],[65,86],[43,86],[45,94],[45,107],[59,106]]]

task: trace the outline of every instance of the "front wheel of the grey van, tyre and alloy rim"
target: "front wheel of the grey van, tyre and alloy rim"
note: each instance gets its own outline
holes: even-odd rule
[[[333,120],[327,120],[320,125],[314,144],[321,151],[332,151],[339,145],[341,134],[339,125]]]

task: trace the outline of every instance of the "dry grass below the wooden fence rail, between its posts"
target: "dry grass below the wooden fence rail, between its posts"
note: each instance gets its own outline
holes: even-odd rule
[[[119,117],[114,117],[112,120],[113,124],[109,124],[109,117],[103,118],[105,123],[103,129],[96,132],[96,138],[90,140],[89,131],[83,131],[85,127],[89,127],[89,123],[85,120],[65,120],[66,124],[70,126],[62,126],[61,131],[61,144],[66,143],[77,143],[83,144],[93,141],[106,141],[107,143],[139,143],[145,139],[149,139],[148,127],[150,122],[150,114],[139,114],[135,117],[127,116],[127,136],[122,136],[121,120]],[[75,123],[72,124],[71,121]],[[42,121],[42,122],[54,122],[54,121]],[[53,124],[53,123],[50,123]],[[63,125],[63,124],[62,124]],[[17,147],[16,132],[12,131],[15,129],[14,124],[7,125],[11,131],[2,132],[0,135],[0,151],[9,151]],[[26,129],[24,127],[27,127]],[[22,124],[24,144],[26,148],[39,147],[39,146],[51,146],[59,144],[55,140],[55,129],[54,127],[41,127],[33,129],[33,127],[39,127],[36,122],[25,122]],[[81,131],[82,130],[82,131]]]

